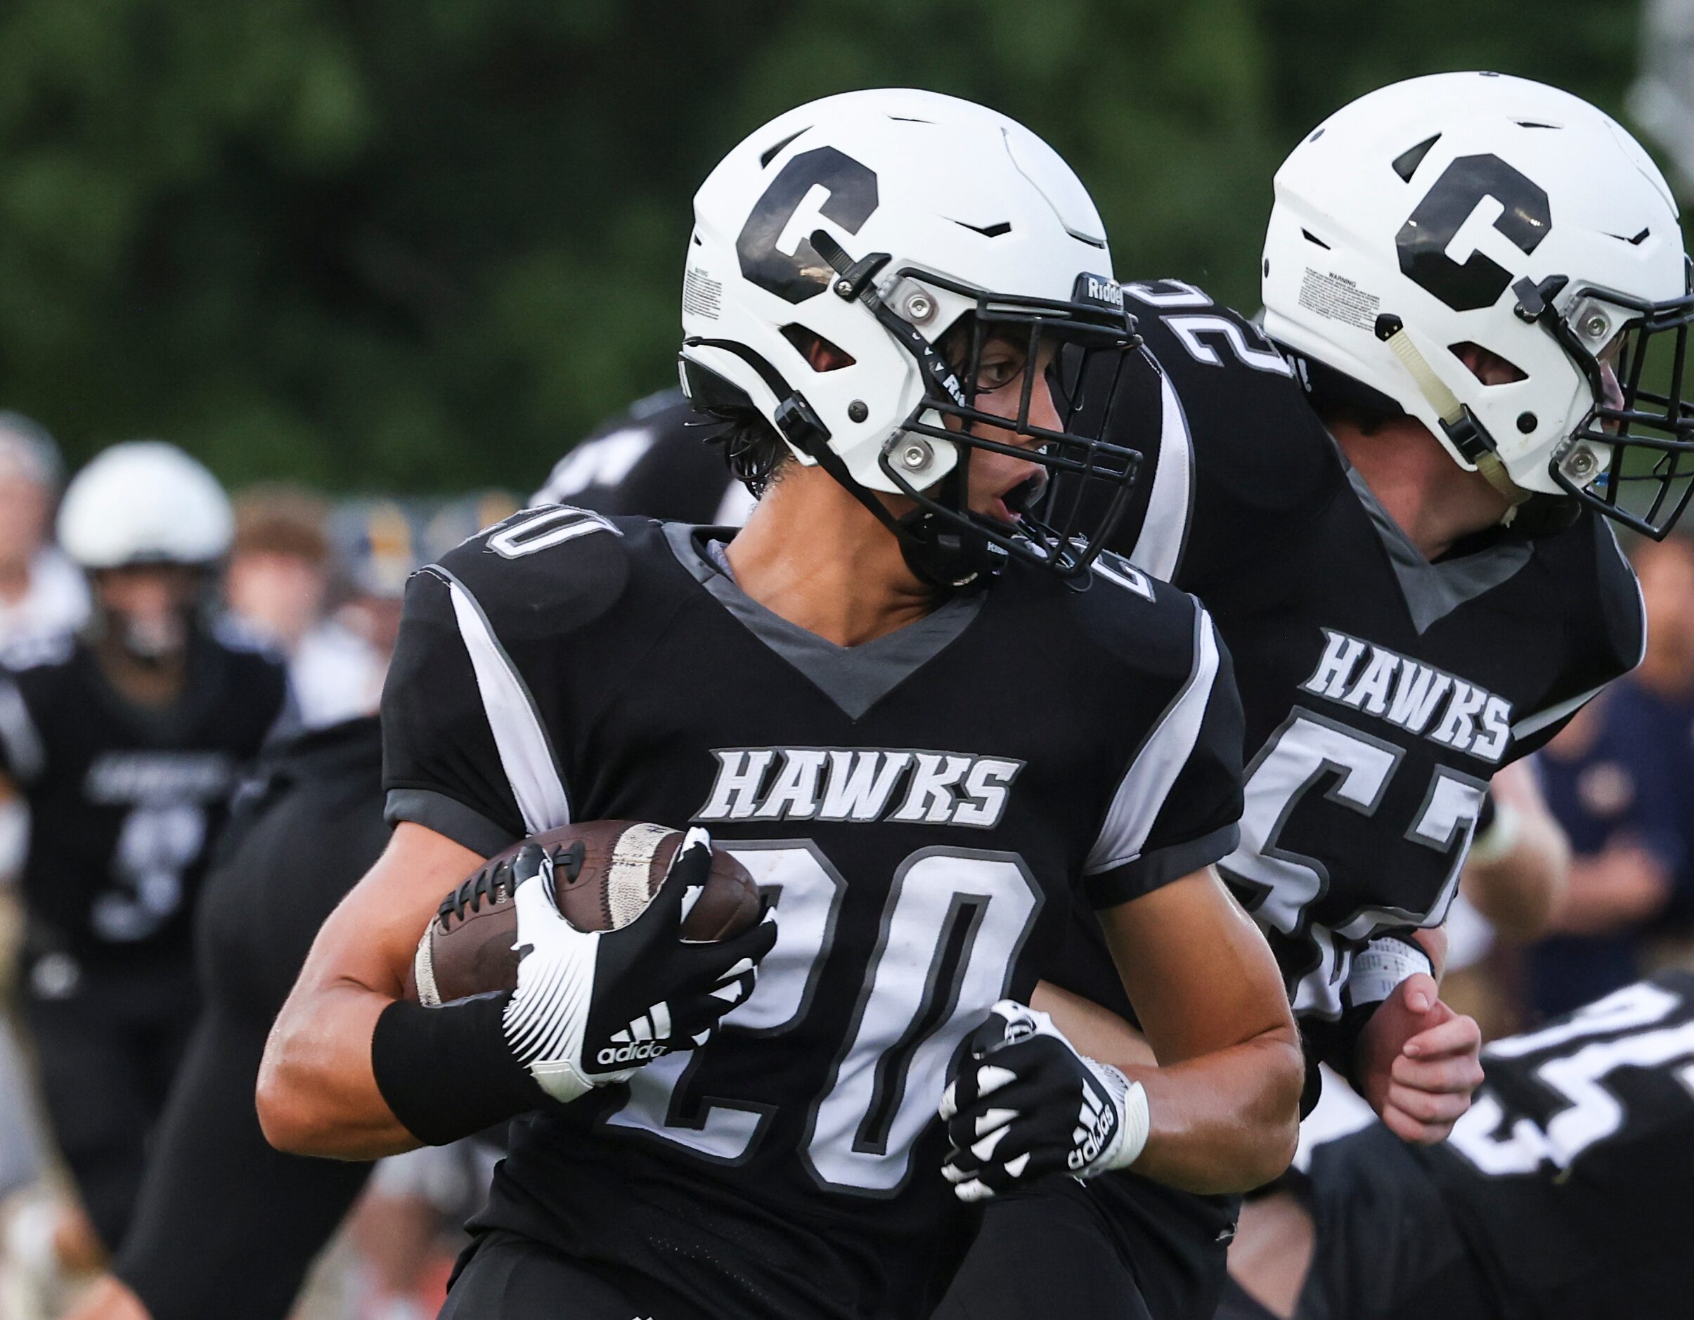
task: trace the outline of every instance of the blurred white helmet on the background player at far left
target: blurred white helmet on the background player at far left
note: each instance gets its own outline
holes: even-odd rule
[[[71,480],[59,505],[59,544],[85,569],[212,564],[235,520],[224,488],[164,441],[125,441]]]

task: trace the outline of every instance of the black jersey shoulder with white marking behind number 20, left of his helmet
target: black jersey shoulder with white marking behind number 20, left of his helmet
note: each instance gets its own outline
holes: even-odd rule
[[[730,476],[720,447],[706,441],[722,429],[720,420],[695,412],[681,390],[649,395],[559,459],[534,503],[739,527],[754,500]]]

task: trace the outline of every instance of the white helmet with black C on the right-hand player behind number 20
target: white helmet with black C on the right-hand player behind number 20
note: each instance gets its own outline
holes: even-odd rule
[[[1574,496],[1655,537],[1694,476],[1691,293],[1647,153],[1523,78],[1372,92],[1276,175],[1264,329],[1315,393],[1403,410],[1516,498]]]

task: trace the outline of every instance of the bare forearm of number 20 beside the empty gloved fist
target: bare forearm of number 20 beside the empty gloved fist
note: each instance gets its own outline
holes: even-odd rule
[[[1182,1191],[1250,1191],[1299,1140],[1304,1062],[1284,1027],[1171,1068],[1125,1068],[1147,1091],[1147,1145],[1130,1167]]]

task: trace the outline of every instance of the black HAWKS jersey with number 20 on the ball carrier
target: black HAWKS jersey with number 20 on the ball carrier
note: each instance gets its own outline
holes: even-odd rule
[[[922,1315],[957,1044],[1028,996],[1072,903],[1235,846],[1228,656],[1118,563],[1086,590],[1013,566],[837,647],[740,593],[728,535],[527,510],[408,588],[390,818],[483,854],[573,818],[701,824],[779,918],[705,1049],[515,1125],[481,1223],[710,1315]]]

